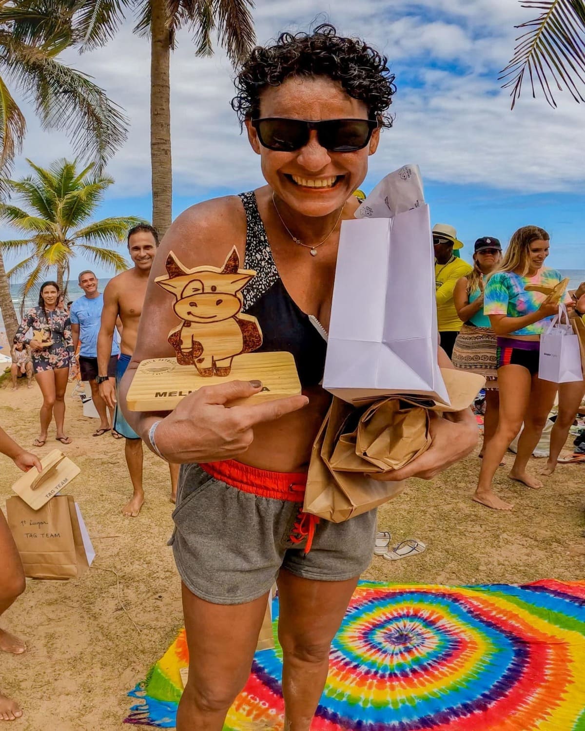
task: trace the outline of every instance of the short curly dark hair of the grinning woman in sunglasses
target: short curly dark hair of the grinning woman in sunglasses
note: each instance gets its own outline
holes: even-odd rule
[[[260,115],[260,95],[267,86],[279,86],[290,76],[326,76],[339,81],[354,99],[368,107],[369,117],[383,127],[393,118],[386,111],[396,92],[388,58],[360,39],[337,35],[330,23],[311,34],[282,33],[273,45],[257,46],[235,77],[238,94],[232,107],[240,123]]]

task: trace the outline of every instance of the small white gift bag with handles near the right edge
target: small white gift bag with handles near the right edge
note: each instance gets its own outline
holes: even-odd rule
[[[566,325],[561,322],[563,315]],[[553,383],[583,380],[579,338],[569,324],[565,305],[559,305],[559,314],[552,319],[546,333],[540,336],[538,377]]]

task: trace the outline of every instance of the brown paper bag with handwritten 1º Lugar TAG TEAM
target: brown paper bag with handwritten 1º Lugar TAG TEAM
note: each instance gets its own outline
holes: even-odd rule
[[[26,576],[69,579],[88,568],[72,496],[56,496],[39,510],[15,496],[7,499],[6,512]]]

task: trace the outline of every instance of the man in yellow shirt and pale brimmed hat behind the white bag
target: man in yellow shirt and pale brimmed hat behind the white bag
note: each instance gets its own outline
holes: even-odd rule
[[[451,357],[457,333],[463,325],[457,315],[453,290],[457,280],[462,276],[467,276],[472,271],[472,267],[467,262],[453,256],[453,249],[461,249],[463,246],[463,243],[458,240],[453,226],[436,224],[433,227],[433,245],[437,324],[441,336],[441,347]]]

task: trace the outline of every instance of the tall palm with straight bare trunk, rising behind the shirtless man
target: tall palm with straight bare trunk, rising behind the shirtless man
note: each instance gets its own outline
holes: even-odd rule
[[[74,0],[69,0],[74,1]],[[197,56],[211,56],[214,31],[227,56],[238,64],[254,44],[253,0],[78,0],[73,23],[80,50],[105,45],[124,13],[138,10],[135,32],[151,38],[152,222],[164,235],[172,220],[170,154],[170,51],[177,32],[189,26]]]

